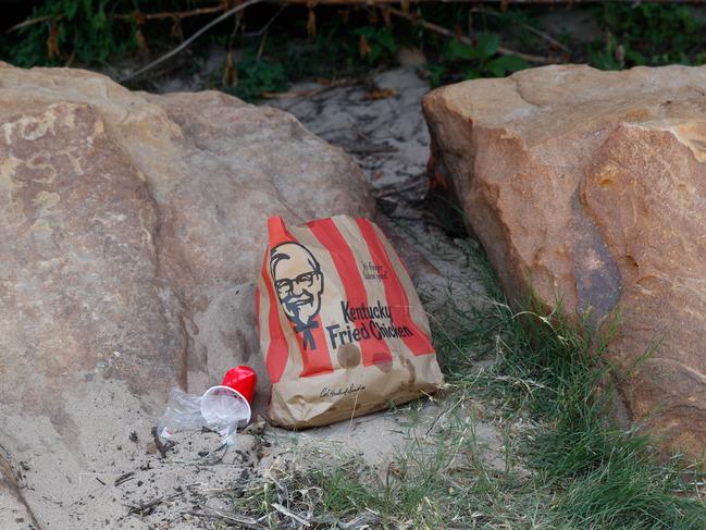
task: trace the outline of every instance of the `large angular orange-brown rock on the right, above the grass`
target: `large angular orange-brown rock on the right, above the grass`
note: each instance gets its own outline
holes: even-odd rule
[[[706,446],[706,67],[547,66],[428,95],[450,181],[506,293],[534,291],[610,345],[630,419]],[[449,178],[450,177],[450,178]],[[645,357],[645,354],[651,354]]]

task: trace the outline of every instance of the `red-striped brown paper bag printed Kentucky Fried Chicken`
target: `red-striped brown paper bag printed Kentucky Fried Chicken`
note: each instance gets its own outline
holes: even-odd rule
[[[375,224],[277,217],[268,233],[256,297],[273,423],[329,424],[443,383],[419,296]]]

